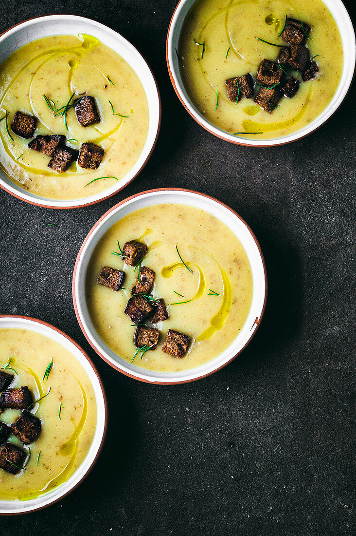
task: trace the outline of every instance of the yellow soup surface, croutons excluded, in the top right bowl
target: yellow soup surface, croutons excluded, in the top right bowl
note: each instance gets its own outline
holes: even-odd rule
[[[278,38],[286,15],[312,27],[305,41],[310,57],[319,55],[317,77],[302,82],[292,71],[301,81],[299,91],[292,99],[283,97],[271,114],[253,98],[230,102],[225,80],[246,73],[255,78],[262,59],[276,61],[281,50],[256,37],[287,46]],[[194,40],[205,41],[203,58]],[[314,121],[335,95],[344,61],[335,19],[321,0],[200,0],[185,20],[178,54],[186,90],[204,117],[231,134],[260,132],[249,136],[253,139],[286,136]]]

